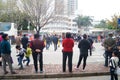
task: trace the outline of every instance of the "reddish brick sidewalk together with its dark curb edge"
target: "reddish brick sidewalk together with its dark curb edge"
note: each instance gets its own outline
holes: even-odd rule
[[[73,65],[74,67],[75,65]],[[80,70],[75,70],[73,68],[73,73],[69,73],[66,71],[62,72],[62,67],[60,64],[45,64],[44,65],[44,73],[34,73],[33,65],[29,67],[25,67],[24,70],[15,69],[18,73],[16,75],[3,75],[2,69],[0,68],[0,77],[1,78],[61,78],[61,77],[78,77],[78,76],[95,76],[95,75],[108,75],[109,68],[103,66],[102,63],[89,63],[86,67],[86,71],[82,72],[81,67]],[[13,77],[14,76],[14,77]]]

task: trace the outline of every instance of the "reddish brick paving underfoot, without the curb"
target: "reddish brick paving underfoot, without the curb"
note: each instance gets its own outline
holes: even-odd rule
[[[73,64],[73,73],[101,73],[101,72],[109,72],[109,67],[104,67],[102,63],[88,63],[85,69],[85,72],[82,72],[82,65],[79,67],[79,70],[75,69],[76,65]],[[7,67],[8,69],[8,67]],[[43,74],[61,74],[62,72],[62,64],[44,64],[43,66],[44,73]],[[14,69],[18,74],[17,75],[26,75],[26,74],[35,74],[34,66],[31,64],[30,66],[25,66],[23,70]],[[9,69],[8,69],[9,71]],[[68,66],[66,65],[66,72],[68,73]],[[3,75],[2,67],[0,67],[0,75]]]

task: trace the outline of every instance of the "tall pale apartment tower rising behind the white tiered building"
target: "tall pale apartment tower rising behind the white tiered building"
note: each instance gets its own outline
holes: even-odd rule
[[[59,6],[60,4],[60,6]],[[78,0],[55,0],[55,12],[61,15],[75,15]]]

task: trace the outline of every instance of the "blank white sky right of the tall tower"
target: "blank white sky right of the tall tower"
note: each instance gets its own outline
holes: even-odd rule
[[[78,0],[78,14],[95,20],[111,19],[120,13],[120,0]]]

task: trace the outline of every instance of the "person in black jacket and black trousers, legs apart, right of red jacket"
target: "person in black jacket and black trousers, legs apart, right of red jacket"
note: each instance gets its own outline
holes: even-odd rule
[[[79,42],[78,48],[80,49],[80,56],[79,56],[79,61],[77,64],[77,69],[79,68],[81,61],[83,59],[83,71],[84,71],[84,69],[86,67],[86,60],[88,57],[88,50],[89,49],[90,49],[90,55],[92,55],[91,45],[90,45],[90,42],[87,40],[86,34],[83,35],[83,39]]]

